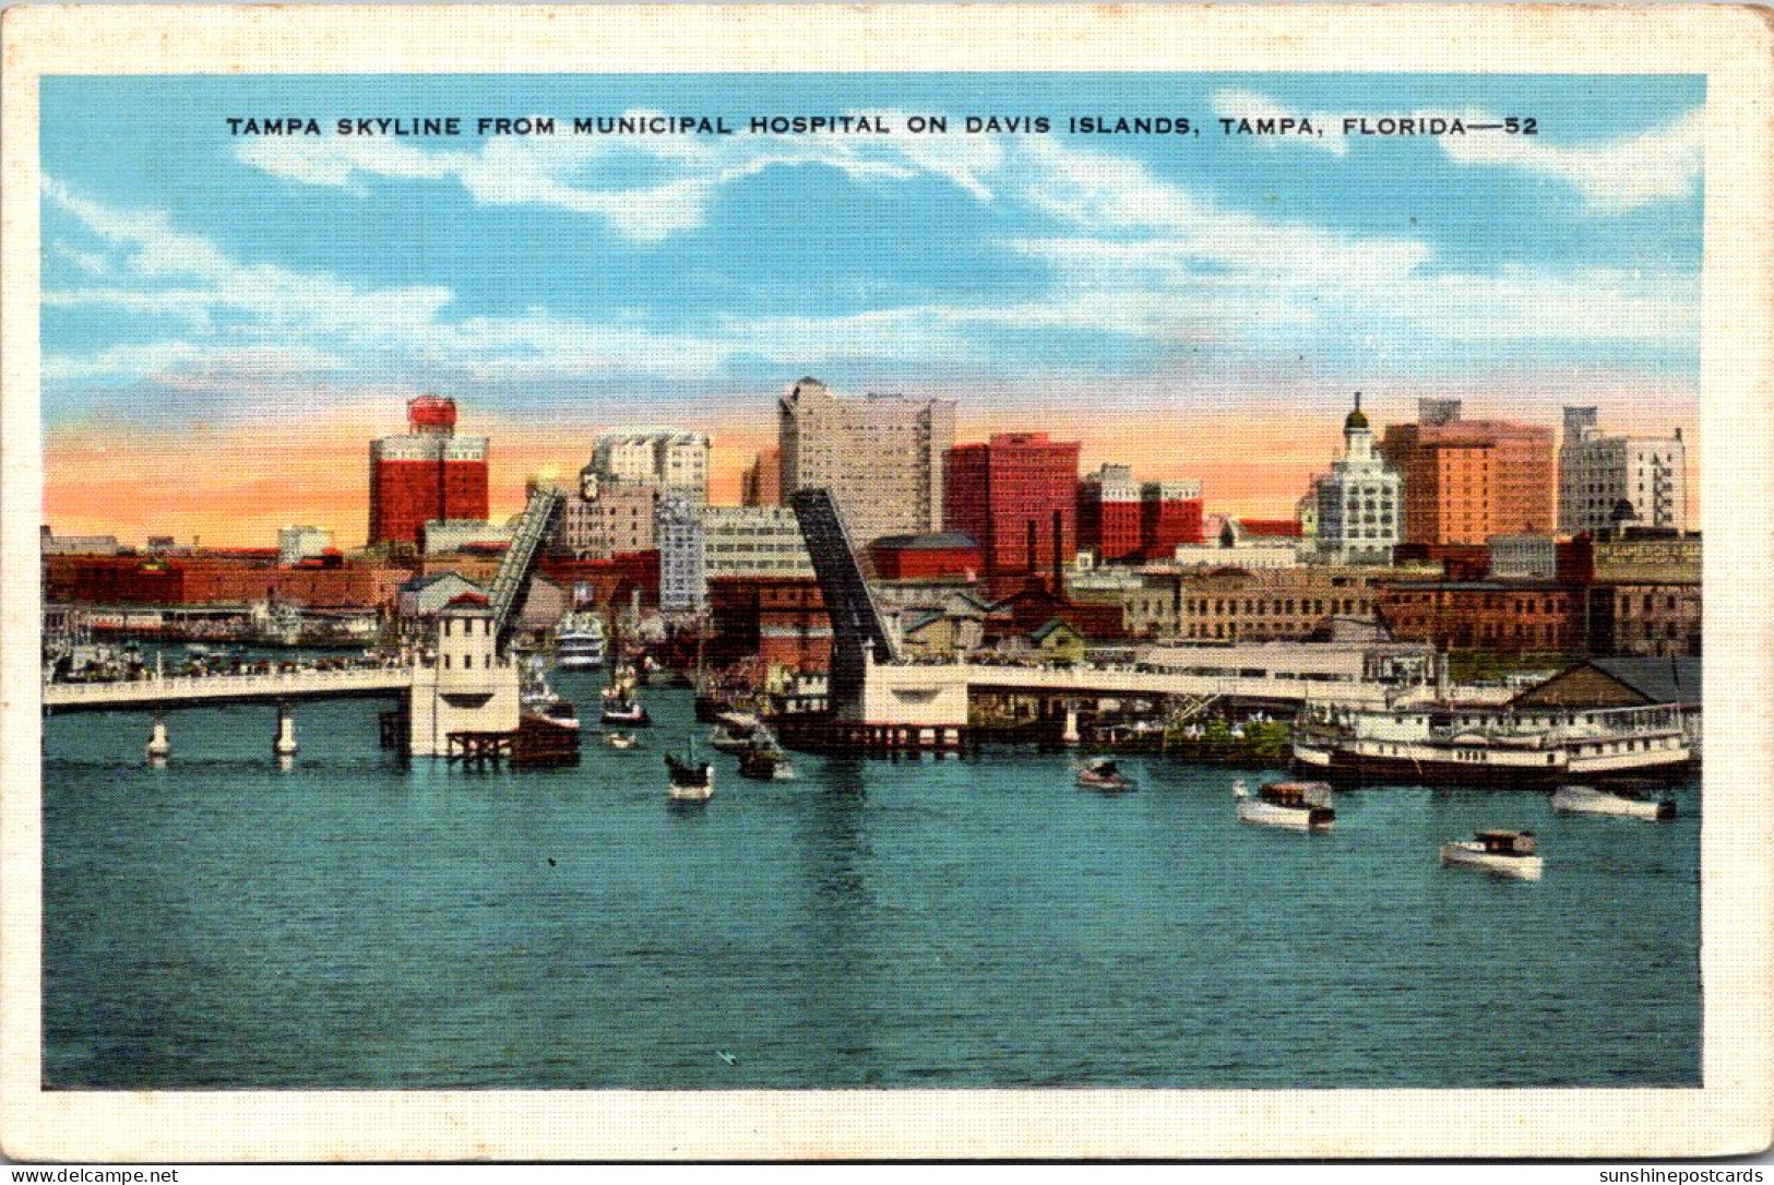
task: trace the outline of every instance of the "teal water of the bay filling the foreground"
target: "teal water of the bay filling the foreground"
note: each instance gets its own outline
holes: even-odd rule
[[[589,706],[598,676],[557,687]],[[44,1079],[57,1087],[1676,1086],[1699,1080],[1699,793],[1675,823],[1375,788],[1240,827],[1228,772],[1073,757],[646,749],[403,770],[376,708],[46,720]],[[587,731],[596,731],[587,724]],[[589,738],[587,738],[589,740]],[[1545,880],[1437,864],[1531,827]],[[552,860],[552,862],[550,862]],[[727,1057],[731,1056],[731,1064]]]

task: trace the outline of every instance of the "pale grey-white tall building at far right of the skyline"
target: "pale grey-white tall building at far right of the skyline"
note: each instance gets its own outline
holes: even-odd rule
[[[1595,408],[1565,408],[1558,452],[1558,529],[1604,530],[1620,504],[1639,527],[1687,529],[1687,445],[1673,436],[1604,436]]]

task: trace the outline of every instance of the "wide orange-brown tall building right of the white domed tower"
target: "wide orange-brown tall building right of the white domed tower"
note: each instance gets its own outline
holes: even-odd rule
[[[1464,420],[1458,399],[1421,399],[1417,408],[1416,424],[1389,424],[1380,442],[1380,456],[1403,477],[1407,543],[1552,530],[1550,428]]]

